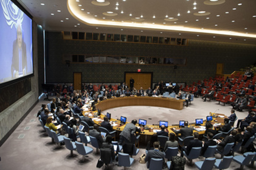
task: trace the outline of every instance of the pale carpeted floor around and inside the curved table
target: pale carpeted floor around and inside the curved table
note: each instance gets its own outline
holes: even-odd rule
[[[40,100],[34,109],[28,114],[28,116],[22,121],[13,134],[7,139],[7,141],[0,148],[0,156],[2,158],[0,162],[0,169],[99,169],[96,168],[96,164],[100,155],[96,154],[94,149],[92,154],[89,154],[85,158],[85,162],[81,162],[82,156],[74,151],[74,156],[71,157],[70,151],[61,146],[56,148],[56,144],[51,143],[49,138],[43,131],[36,113],[40,109],[41,104],[47,104],[47,101]],[[112,113],[113,118],[119,118],[120,116],[126,116],[127,121],[131,121],[134,118],[146,119],[147,124],[157,124],[158,121],[168,121],[169,125],[177,124],[179,120],[188,120],[189,122],[195,122],[195,118],[204,118],[209,112],[230,114],[230,105],[217,104],[216,101],[203,102],[202,99],[197,98],[192,101],[189,107],[185,107],[181,111],[168,108],[157,107],[122,107],[113,108],[103,113]],[[247,111],[237,112],[238,118],[244,118],[247,116]],[[79,139],[80,140],[80,139]],[[92,147],[91,145],[88,145]],[[144,146],[140,145],[140,151],[137,156],[133,156],[135,162],[130,168],[126,169],[147,169],[146,164],[138,163],[138,158],[145,153]],[[235,155],[241,155],[236,153]],[[216,158],[219,159],[220,155],[216,154]],[[197,162],[204,160],[203,157],[193,160]],[[240,165],[233,162],[229,169],[239,169]],[[105,169],[105,166],[100,168]],[[110,165],[109,169],[123,169],[117,165]],[[185,165],[185,169],[197,169],[195,164],[189,166]],[[216,169],[216,168],[213,168]],[[255,169],[245,167],[244,169]]]

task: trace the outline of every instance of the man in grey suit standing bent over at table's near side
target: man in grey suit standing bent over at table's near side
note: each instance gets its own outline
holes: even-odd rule
[[[132,120],[130,124],[126,124],[123,131],[120,133],[119,145],[122,145],[123,142],[135,143],[136,132],[140,132],[141,129],[138,129],[135,125],[137,120]]]

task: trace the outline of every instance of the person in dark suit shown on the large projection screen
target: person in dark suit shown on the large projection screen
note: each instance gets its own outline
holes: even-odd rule
[[[11,77],[18,78],[27,74],[27,48],[22,39],[22,24],[17,21],[17,39],[13,42],[13,59],[11,63]]]

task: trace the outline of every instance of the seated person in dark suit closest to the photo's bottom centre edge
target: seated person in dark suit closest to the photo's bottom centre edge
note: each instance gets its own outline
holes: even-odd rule
[[[148,150],[146,158],[145,158],[145,162],[147,162],[147,168],[149,168],[151,158],[156,158],[156,159],[162,158],[163,165],[165,164],[165,159],[164,159],[165,154],[164,154],[164,152],[161,152],[159,150],[160,143],[154,142],[153,146],[154,146],[154,150]]]

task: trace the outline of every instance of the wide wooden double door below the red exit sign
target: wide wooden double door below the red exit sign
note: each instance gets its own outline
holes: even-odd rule
[[[130,79],[134,79],[134,87],[139,90],[141,87],[147,90],[151,87],[152,83],[152,73],[126,73],[125,83],[130,87]]]

